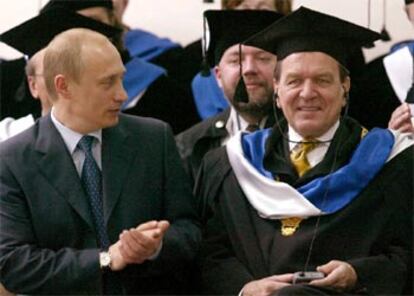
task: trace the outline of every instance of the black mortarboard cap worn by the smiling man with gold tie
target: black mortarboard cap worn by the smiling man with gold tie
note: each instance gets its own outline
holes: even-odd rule
[[[278,60],[295,52],[319,51],[346,67],[348,55],[356,48],[370,46],[380,38],[377,32],[300,7],[243,44],[272,52]]]

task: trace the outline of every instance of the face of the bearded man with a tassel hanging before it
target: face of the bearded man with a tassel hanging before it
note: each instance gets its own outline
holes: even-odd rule
[[[267,113],[272,106],[273,72],[276,57],[252,46],[242,46],[242,75],[246,84],[249,102],[233,100],[236,86],[240,80],[239,45],[228,48],[216,66],[216,77],[224,94],[241,113],[253,115]]]

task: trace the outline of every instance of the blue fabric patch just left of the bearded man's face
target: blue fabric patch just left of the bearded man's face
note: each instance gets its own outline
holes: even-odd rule
[[[198,73],[191,82],[191,89],[198,114],[202,119],[217,115],[229,107],[212,69],[207,77]]]

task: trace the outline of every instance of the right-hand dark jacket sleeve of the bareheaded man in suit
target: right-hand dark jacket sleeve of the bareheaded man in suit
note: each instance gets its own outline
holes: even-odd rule
[[[159,256],[153,261],[147,261],[147,271],[169,273],[182,282],[188,281],[185,274],[193,266],[199,250],[201,240],[199,216],[188,176],[182,167],[169,127],[163,129],[162,137],[163,219],[170,222],[170,228],[164,236]]]

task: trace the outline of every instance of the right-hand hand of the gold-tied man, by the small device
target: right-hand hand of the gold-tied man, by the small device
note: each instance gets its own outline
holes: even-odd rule
[[[319,266],[317,271],[326,276],[321,280],[311,281],[309,284],[317,287],[329,287],[339,292],[349,291],[355,287],[358,277],[351,264],[332,260],[325,265]]]

